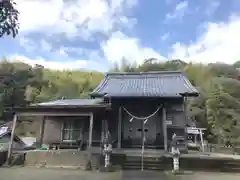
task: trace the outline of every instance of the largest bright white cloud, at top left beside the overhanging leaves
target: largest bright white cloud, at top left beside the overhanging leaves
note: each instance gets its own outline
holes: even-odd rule
[[[119,17],[127,20],[125,10],[137,4],[136,0],[24,0],[19,1],[20,32],[89,38],[94,32],[108,33]]]

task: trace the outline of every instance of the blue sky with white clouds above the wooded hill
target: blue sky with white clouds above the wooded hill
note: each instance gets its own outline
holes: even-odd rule
[[[20,33],[0,55],[51,69],[107,71],[141,63],[240,60],[239,0],[23,0]]]

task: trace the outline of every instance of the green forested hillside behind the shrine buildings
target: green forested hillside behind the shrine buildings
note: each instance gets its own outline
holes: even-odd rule
[[[159,62],[147,59],[141,65],[126,62],[110,71],[147,72],[183,71],[200,96],[187,100],[187,113],[196,123],[207,128],[206,138],[212,143],[240,143],[240,61],[233,65],[186,63],[181,60]],[[21,62],[0,63],[0,120],[9,121],[12,109],[31,103],[64,98],[87,97],[103,79],[101,72],[55,71]],[[30,122],[31,123],[31,122]],[[29,121],[21,122],[22,129]],[[30,126],[31,127],[31,126]],[[31,130],[32,131],[32,130]]]

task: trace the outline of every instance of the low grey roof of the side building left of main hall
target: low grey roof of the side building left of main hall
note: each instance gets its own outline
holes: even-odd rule
[[[93,106],[101,105],[103,99],[61,99],[49,102],[33,104],[32,106]]]

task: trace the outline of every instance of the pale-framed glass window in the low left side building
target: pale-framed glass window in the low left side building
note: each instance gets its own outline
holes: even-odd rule
[[[81,140],[83,123],[79,118],[65,119],[63,123],[63,141]]]

